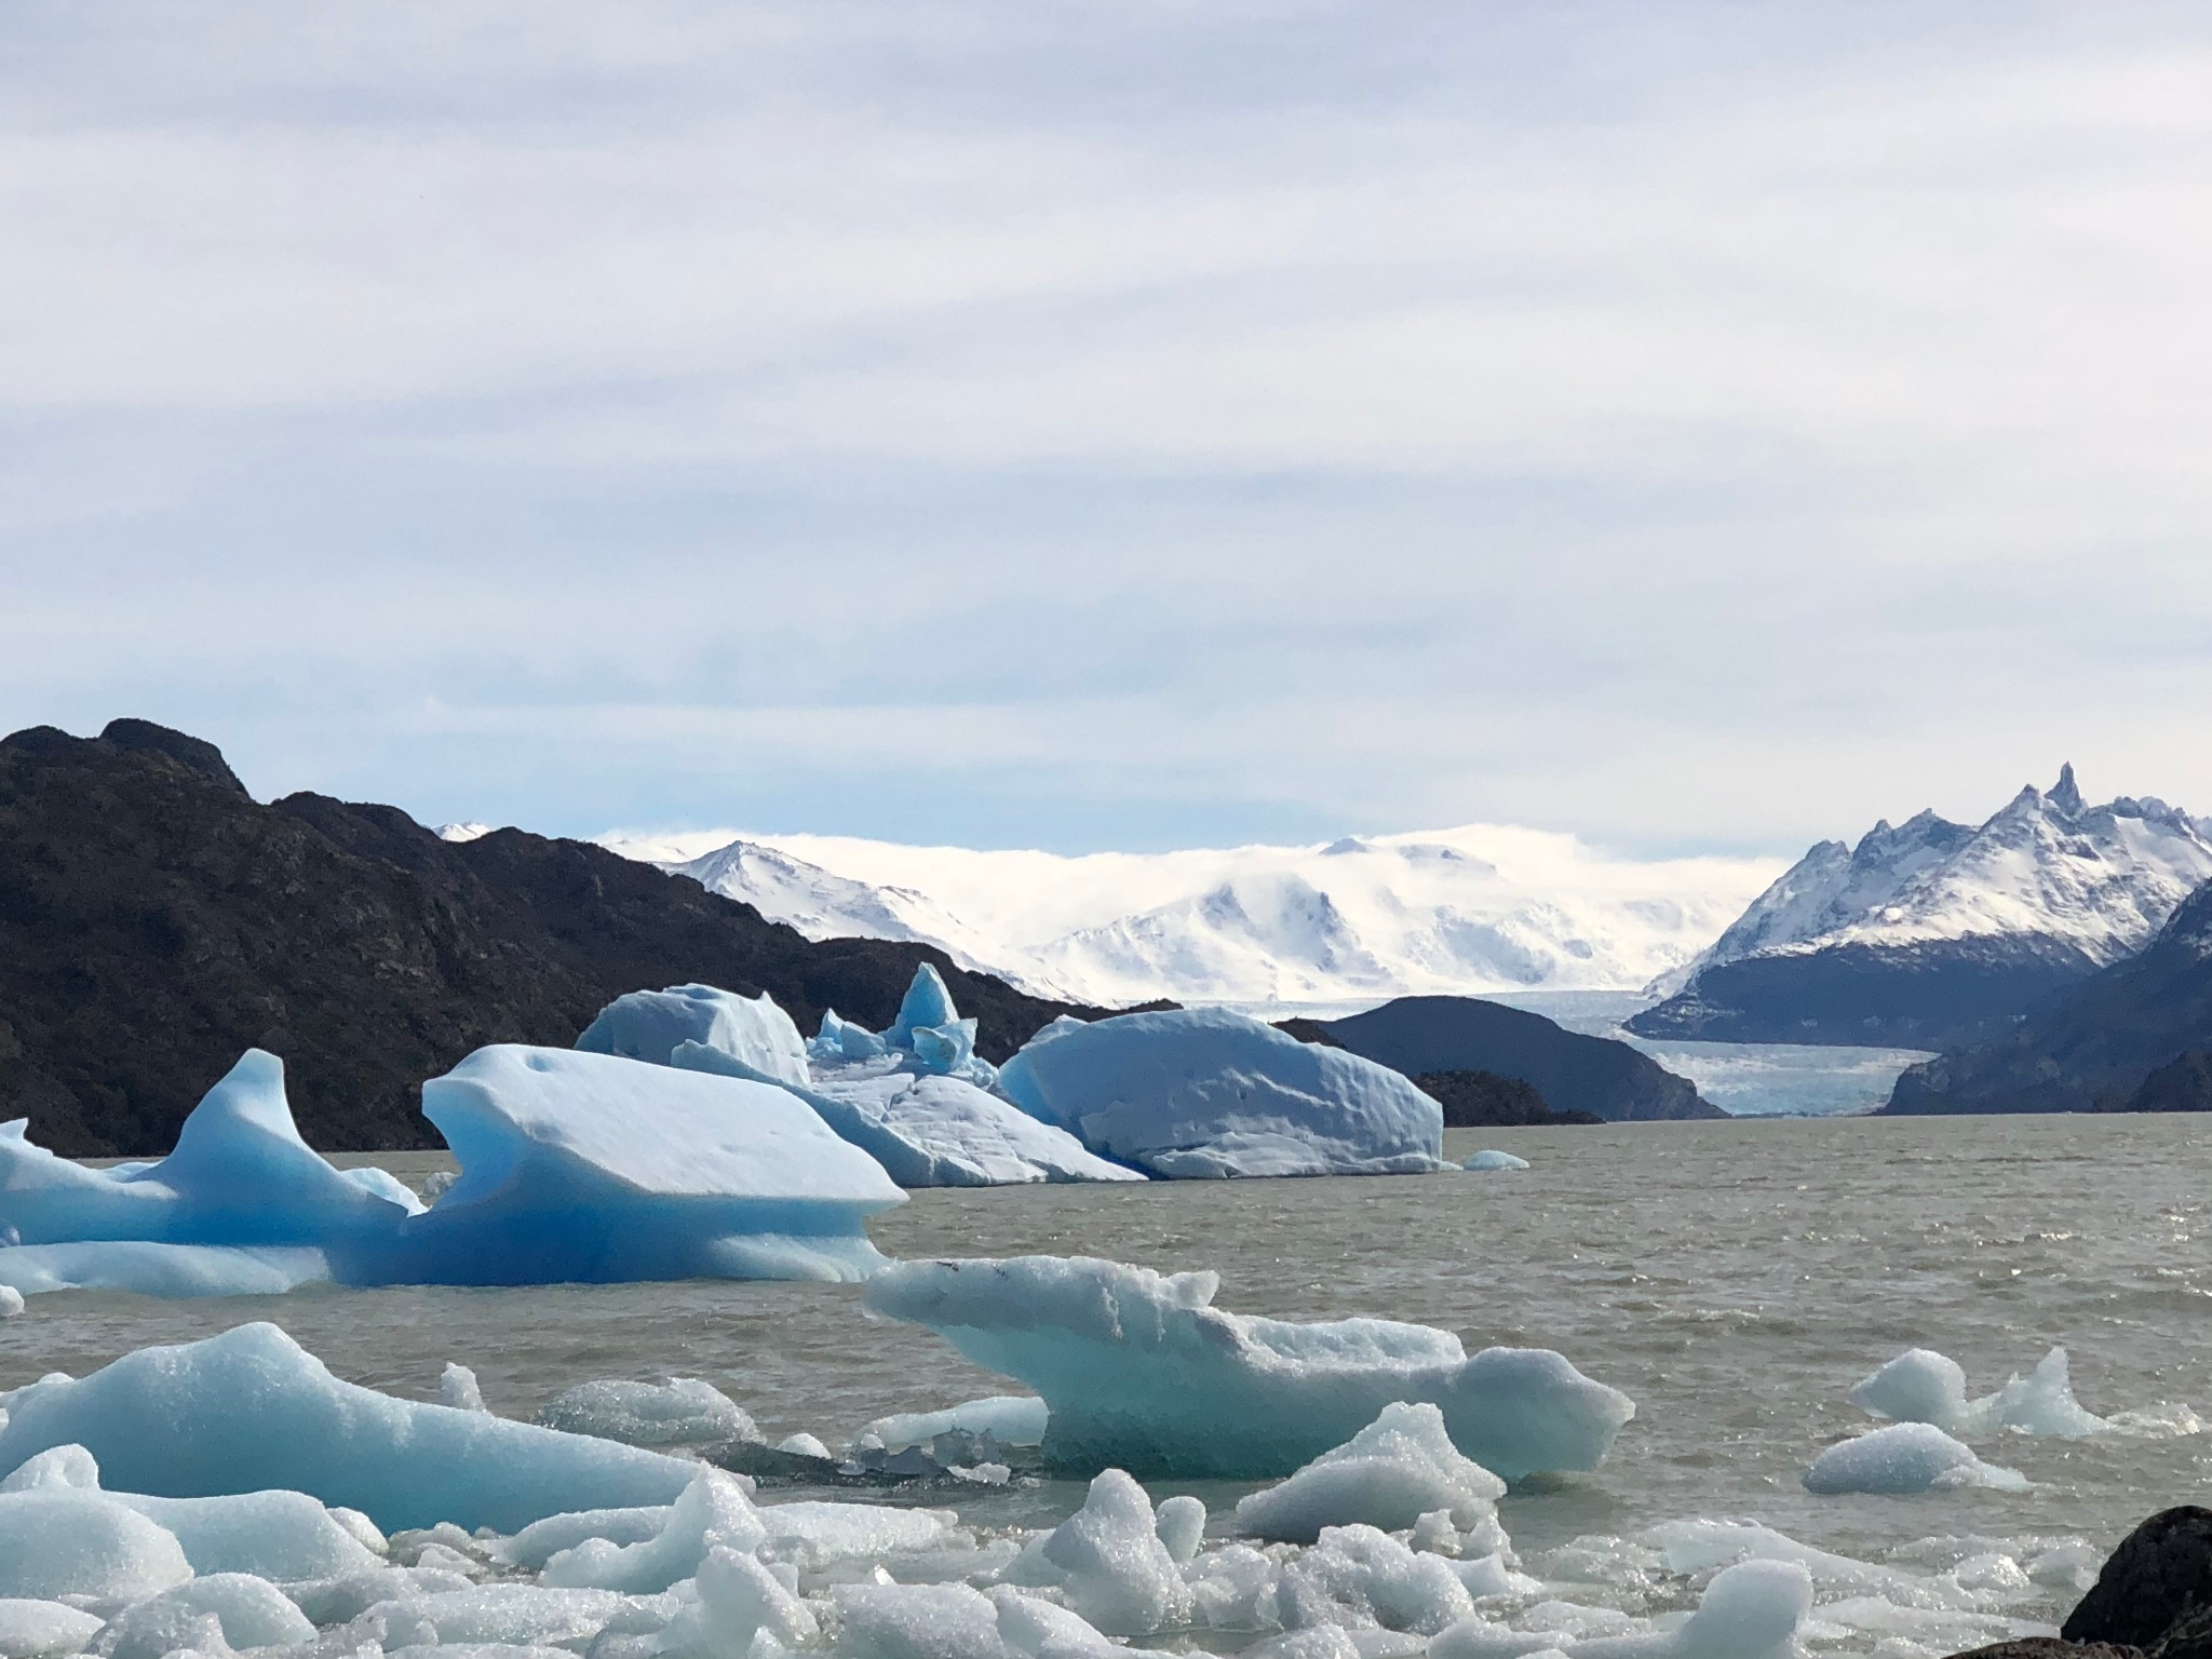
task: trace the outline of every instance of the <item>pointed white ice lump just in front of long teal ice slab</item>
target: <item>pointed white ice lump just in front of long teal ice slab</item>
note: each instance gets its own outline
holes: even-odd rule
[[[1442,1511],[1464,1533],[1498,1513],[1504,1491],[1498,1475],[1451,1444],[1442,1411],[1394,1400],[1345,1444],[1283,1484],[1243,1498],[1237,1531],[1312,1544],[1323,1526],[1367,1522],[1398,1533]]]

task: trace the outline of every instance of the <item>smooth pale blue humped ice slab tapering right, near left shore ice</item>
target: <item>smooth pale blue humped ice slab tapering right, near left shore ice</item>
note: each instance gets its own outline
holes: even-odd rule
[[[385,1531],[458,1522],[511,1533],[564,1511],[668,1504],[697,1473],[613,1440],[341,1383],[274,1325],[144,1347],[86,1378],[20,1389],[0,1429],[0,1471],[64,1444],[86,1447],[115,1489],[303,1491]]]

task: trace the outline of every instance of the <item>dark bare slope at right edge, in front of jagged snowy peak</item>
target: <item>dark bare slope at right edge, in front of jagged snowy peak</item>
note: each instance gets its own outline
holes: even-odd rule
[[[2212,1110],[2212,885],[2139,956],[2046,998],[1991,1042],[1898,1077],[1882,1108],[1929,1113]]]

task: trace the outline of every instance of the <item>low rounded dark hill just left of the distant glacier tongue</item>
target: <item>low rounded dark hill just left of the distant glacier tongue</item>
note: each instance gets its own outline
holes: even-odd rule
[[[1407,1077],[1482,1071],[1528,1084],[1555,1113],[1624,1119],[1728,1117],[1650,1055],[1480,998],[1398,998],[1321,1031]]]

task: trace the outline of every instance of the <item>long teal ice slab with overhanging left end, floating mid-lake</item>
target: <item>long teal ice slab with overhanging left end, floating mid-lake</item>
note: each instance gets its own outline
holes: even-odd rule
[[[1427,1325],[1228,1314],[1217,1287],[1217,1274],[1013,1256],[891,1263],[865,1301],[1042,1394],[1044,1455],[1060,1467],[1287,1475],[1391,1400],[1429,1400],[1462,1453],[1517,1480],[1595,1469],[1635,1416],[1546,1349],[1469,1356]]]

